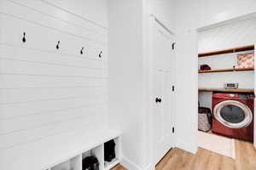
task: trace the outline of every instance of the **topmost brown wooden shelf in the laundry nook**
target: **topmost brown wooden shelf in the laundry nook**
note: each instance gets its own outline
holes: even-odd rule
[[[230,53],[236,53],[236,52],[253,50],[253,49],[254,49],[254,45],[242,46],[238,48],[227,48],[227,49],[222,49],[217,51],[210,51],[207,53],[201,53],[201,54],[198,54],[198,57],[207,57],[207,56],[218,55],[218,54],[230,54]]]

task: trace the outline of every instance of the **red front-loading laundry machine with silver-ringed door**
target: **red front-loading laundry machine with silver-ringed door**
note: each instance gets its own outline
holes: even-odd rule
[[[253,141],[253,94],[213,93],[212,133]]]

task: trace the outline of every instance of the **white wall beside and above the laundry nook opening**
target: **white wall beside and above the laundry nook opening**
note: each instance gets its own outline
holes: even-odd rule
[[[175,1],[177,33],[177,145],[196,151],[197,32],[195,29],[256,11],[253,0]]]

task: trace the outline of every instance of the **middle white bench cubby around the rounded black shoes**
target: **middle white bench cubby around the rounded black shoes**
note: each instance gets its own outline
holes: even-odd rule
[[[87,156],[96,156],[99,161],[100,170],[104,169],[104,153],[103,153],[103,144],[97,146],[92,150],[88,150],[82,154],[82,160]]]

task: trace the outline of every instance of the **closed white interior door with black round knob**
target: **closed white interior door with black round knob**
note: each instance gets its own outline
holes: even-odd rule
[[[173,36],[158,22],[152,29],[152,111],[154,165],[172,148],[172,43]]]

